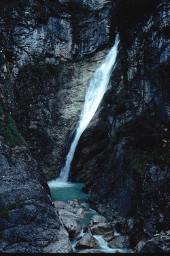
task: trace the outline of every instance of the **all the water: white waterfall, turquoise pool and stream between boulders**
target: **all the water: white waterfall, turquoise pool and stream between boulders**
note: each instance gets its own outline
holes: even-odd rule
[[[112,49],[109,51],[107,56],[105,57],[103,63],[101,63],[101,66],[95,71],[94,76],[90,80],[90,83],[88,85],[88,89],[86,91],[86,96],[84,100],[84,106],[82,109],[82,113],[80,115],[80,119],[78,122],[78,126],[75,132],[75,137],[73,139],[73,142],[71,143],[71,147],[69,149],[69,153],[67,154],[65,158],[65,165],[61,169],[61,173],[59,177],[56,178],[56,180],[52,180],[48,182],[48,185],[50,186],[52,199],[55,200],[61,200],[67,202],[71,199],[78,199],[82,205],[87,197],[86,194],[82,192],[82,186],[84,184],[82,183],[73,183],[68,182],[69,178],[69,171],[71,168],[71,162],[73,160],[73,156],[75,153],[75,148],[78,145],[78,141],[90,123],[90,120],[95,115],[95,112],[97,111],[97,108],[103,98],[103,95],[105,94],[105,91],[107,89],[107,85],[109,83],[109,77],[112,72],[112,68],[114,67],[114,63],[116,61],[116,55],[117,55],[117,48],[118,48],[118,35],[116,36],[115,44],[112,47]],[[88,224],[90,221],[90,218],[92,218],[93,215],[96,215],[97,212],[94,210],[86,211],[86,218],[80,218],[80,225],[82,224]],[[90,228],[89,228],[90,233]],[[115,233],[116,235],[116,233]],[[84,236],[83,231],[80,233],[80,237]],[[120,236],[120,234],[118,234]],[[116,250],[109,248],[107,246],[107,242],[103,240],[102,236],[94,236],[99,241],[100,250],[105,253],[115,253]],[[71,241],[73,250],[75,253],[78,253],[78,250],[75,249],[75,244],[77,240]],[[120,252],[124,252],[124,250],[119,250]]]

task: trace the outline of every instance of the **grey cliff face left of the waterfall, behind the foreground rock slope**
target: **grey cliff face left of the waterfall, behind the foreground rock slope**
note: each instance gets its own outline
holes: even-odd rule
[[[3,1],[0,10],[3,106],[52,179],[61,171],[88,81],[107,53],[99,50],[113,37],[112,4],[21,2]]]

